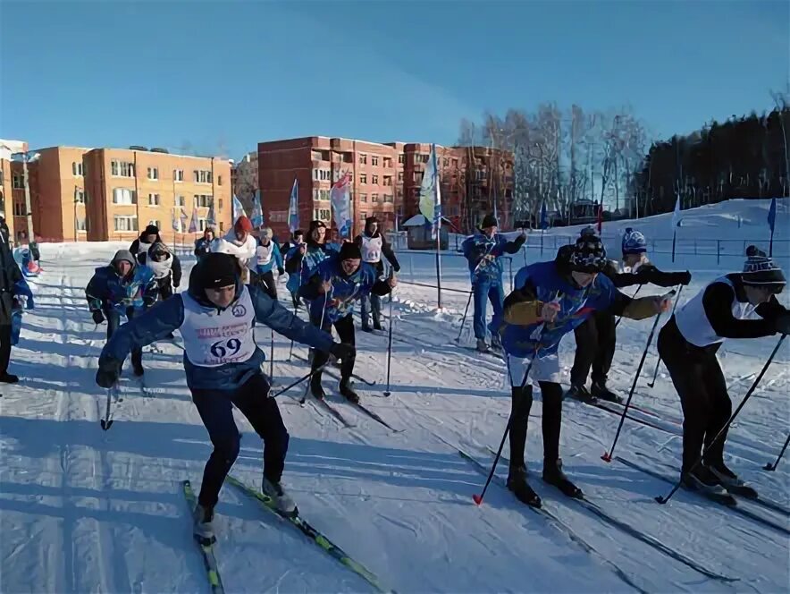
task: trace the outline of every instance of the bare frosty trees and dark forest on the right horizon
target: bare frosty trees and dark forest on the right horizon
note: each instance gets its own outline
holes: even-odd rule
[[[479,123],[462,120],[458,145],[506,156],[493,159],[501,180],[492,180],[493,192],[507,197],[498,190],[512,188],[512,200],[497,198],[499,208],[533,224],[544,200],[552,225],[563,225],[601,201],[611,218],[668,212],[678,195],[683,208],[788,196],[790,93],[771,97],[770,112],[711,121],[669,140],[654,140],[629,108],[586,112],[550,103],[534,113],[509,109]]]

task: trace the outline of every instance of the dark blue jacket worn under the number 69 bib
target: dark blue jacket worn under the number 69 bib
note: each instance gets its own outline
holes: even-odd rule
[[[199,272],[196,274],[196,270],[199,266],[200,264],[192,268],[189,275],[189,296],[198,301],[206,310],[215,310],[216,306],[206,299],[205,290],[198,283]],[[239,299],[241,287],[241,279],[237,276],[237,297],[228,307],[232,308]],[[273,300],[255,285],[248,285],[247,290],[255,308],[257,322],[273,328],[298,343],[308,344],[319,351],[329,351],[333,342],[332,335],[294,316],[289,310],[282,307],[279,301]],[[113,337],[102,350],[99,357],[99,368],[105,366],[105,369],[113,369],[113,366],[123,363],[133,348],[142,348],[147,344],[164,339],[171,332],[180,328],[183,322],[184,301],[180,294],[160,301],[153,308],[132,318],[115,331]],[[249,332],[252,332],[252,328],[249,328]],[[243,386],[254,374],[262,373],[261,365],[265,361],[265,354],[261,349],[256,348],[253,356],[247,361],[227,363],[211,368],[193,365],[187,358],[186,352],[183,361],[189,389],[232,391]]]

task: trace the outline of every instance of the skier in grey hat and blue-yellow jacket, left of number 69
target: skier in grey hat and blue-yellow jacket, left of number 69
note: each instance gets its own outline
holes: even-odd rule
[[[159,285],[153,271],[131,255],[129,250],[118,250],[108,266],[99,267],[85,287],[85,297],[95,324],[107,320],[109,341],[121,325],[121,316],[131,320],[151,307],[159,297]],[[143,351],[136,347],[131,352],[134,375],[142,376]]]

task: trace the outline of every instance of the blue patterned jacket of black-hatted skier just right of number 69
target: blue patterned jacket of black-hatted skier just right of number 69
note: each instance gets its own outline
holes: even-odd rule
[[[330,293],[321,292],[321,284],[326,281],[332,283]],[[353,314],[359,299],[370,293],[386,295],[390,292],[390,284],[386,279],[378,278],[373,264],[362,262],[354,274],[346,276],[340,257],[334,255],[313,269],[307,283],[299,289],[299,296],[310,301],[311,319],[319,321],[323,318],[334,323]]]

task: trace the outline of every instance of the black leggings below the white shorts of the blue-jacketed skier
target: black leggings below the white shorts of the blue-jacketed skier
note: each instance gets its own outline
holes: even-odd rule
[[[559,460],[559,430],[562,426],[562,386],[555,382],[538,382],[543,402],[543,466]],[[525,465],[526,427],[532,409],[532,385],[511,388],[510,398],[510,465]]]

